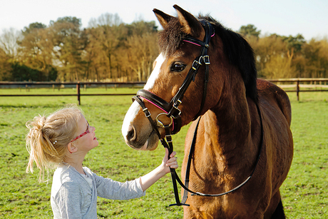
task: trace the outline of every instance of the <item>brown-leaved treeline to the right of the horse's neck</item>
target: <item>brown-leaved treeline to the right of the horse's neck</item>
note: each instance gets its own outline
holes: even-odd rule
[[[252,24],[239,30],[255,51],[257,73],[262,78],[327,78],[328,40],[297,36],[260,36]]]

